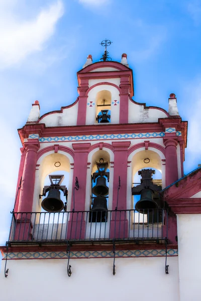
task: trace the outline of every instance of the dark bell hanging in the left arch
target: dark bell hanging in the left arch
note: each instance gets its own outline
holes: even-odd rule
[[[59,212],[63,210],[64,204],[60,198],[60,191],[56,188],[51,188],[47,198],[45,198],[41,206],[48,212]]]

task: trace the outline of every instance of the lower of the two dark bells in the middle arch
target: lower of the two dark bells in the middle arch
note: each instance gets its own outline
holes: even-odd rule
[[[107,199],[103,196],[98,196],[93,199],[89,221],[94,222],[107,222]]]

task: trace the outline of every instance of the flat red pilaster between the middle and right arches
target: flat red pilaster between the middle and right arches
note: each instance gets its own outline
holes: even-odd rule
[[[114,181],[113,181],[113,210],[117,207],[117,211],[113,212],[111,219],[110,238],[124,238],[128,237],[128,220],[127,209],[127,164],[128,164],[128,148],[130,141],[113,142],[115,159],[114,159]],[[118,186],[119,176],[121,180],[121,187]]]

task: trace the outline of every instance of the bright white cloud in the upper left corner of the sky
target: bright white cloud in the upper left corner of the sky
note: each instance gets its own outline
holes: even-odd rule
[[[28,55],[43,50],[64,13],[63,4],[58,0],[42,9],[33,20],[22,21],[14,13],[14,2],[9,1],[9,4],[0,2],[0,68],[17,64]]]

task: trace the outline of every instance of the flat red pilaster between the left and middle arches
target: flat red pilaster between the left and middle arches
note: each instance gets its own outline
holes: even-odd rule
[[[86,172],[90,143],[73,143],[72,147],[74,149],[74,170],[72,181],[71,211],[74,209],[74,213],[71,213],[70,220],[68,222],[67,239],[79,239],[84,238],[85,234],[85,219],[82,211],[85,210]],[[75,200],[73,202],[75,177],[78,179],[79,189],[74,191]]]

